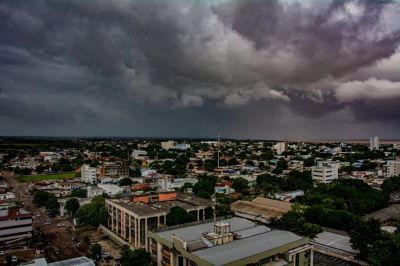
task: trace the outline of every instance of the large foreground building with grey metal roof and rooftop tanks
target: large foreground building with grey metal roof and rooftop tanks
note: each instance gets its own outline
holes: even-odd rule
[[[243,218],[150,231],[156,265],[313,265],[308,239]]]

